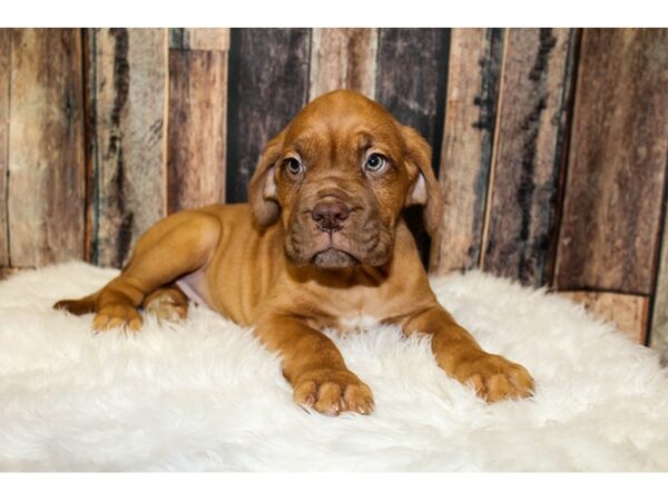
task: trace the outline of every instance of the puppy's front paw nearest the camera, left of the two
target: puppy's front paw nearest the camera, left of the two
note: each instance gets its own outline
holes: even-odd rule
[[[352,411],[370,414],[373,392],[352,372],[343,369],[317,369],[304,372],[294,384],[294,401],[327,415]]]

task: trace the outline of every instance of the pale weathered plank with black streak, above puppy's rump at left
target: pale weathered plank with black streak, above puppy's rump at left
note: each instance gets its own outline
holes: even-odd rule
[[[167,214],[165,29],[99,29],[95,38],[92,262],[121,266]]]

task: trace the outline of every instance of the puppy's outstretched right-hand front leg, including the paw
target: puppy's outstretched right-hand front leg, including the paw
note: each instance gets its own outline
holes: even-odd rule
[[[404,332],[433,334],[432,351],[439,365],[488,402],[524,399],[533,393],[533,379],[524,367],[484,352],[440,305],[409,317]]]

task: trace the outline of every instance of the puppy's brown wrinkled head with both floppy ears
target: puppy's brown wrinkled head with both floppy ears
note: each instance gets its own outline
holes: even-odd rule
[[[386,263],[402,209],[425,206],[431,234],[442,205],[424,138],[350,90],[321,96],[268,143],[249,202],[258,224],[281,219],[293,264],[328,268]]]

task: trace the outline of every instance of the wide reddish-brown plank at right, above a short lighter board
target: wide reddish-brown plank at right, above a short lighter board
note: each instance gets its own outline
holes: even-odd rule
[[[650,294],[668,150],[668,30],[582,36],[556,284]]]

